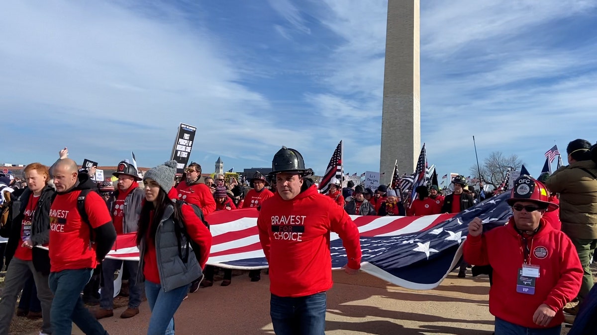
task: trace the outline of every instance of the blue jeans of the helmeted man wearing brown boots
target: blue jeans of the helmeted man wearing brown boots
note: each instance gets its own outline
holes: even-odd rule
[[[128,269],[128,308],[139,308],[141,304],[141,286],[137,285],[137,271],[139,262],[135,260],[104,259],[101,262],[101,272],[104,286],[101,287],[100,308],[112,309],[114,303],[114,271],[119,270],[124,262],[124,269]]]

